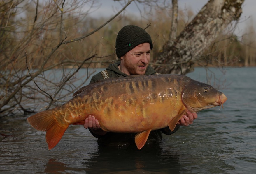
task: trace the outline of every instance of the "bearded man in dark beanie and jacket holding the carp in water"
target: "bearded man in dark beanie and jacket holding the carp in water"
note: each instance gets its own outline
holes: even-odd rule
[[[117,35],[116,38],[116,55],[120,59],[115,64],[110,64],[106,70],[94,75],[90,81],[95,81],[110,78],[110,77],[126,77],[129,75],[152,75],[158,74],[151,66],[150,51],[153,48],[153,43],[150,35],[138,26],[125,26]],[[114,89],[113,89],[114,90]],[[176,132],[181,126],[188,126],[193,123],[197,118],[196,113],[187,111],[187,115],[179,120],[174,131],[169,127],[160,130],[151,131],[148,141],[160,141],[162,133],[171,135]],[[112,146],[129,146],[135,145],[134,136],[136,133],[111,133],[101,130],[99,122],[93,115],[85,119],[84,127],[89,128],[92,135],[98,138],[99,144],[112,145]]]

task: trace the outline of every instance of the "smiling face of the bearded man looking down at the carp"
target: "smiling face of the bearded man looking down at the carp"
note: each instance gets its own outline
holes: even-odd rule
[[[127,75],[144,75],[150,61],[150,44],[143,43],[122,56],[120,70]]]

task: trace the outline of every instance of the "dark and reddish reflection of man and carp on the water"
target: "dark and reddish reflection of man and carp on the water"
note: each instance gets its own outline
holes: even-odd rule
[[[87,153],[90,158],[76,159],[76,165],[70,165],[69,158],[64,162],[49,159],[45,173],[86,172],[86,173],[180,173],[182,166],[178,156],[163,152],[157,144],[151,144],[139,151],[98,146],[97,151]],[[168,155],[167,155],[168,154]],[[79,166],[79,167],[77,167]]]

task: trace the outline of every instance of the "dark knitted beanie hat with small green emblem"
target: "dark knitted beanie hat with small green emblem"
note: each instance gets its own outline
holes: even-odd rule
[[[142,43],[149,43],[150,49],[153,48],[153,43],[150,35],[138,26],[124,26],[117,34],[115,41],[115,52],[118,58],[125,55],[127,52]]]

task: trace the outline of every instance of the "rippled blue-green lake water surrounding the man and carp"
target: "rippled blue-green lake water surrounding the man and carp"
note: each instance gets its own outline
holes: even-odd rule
[[[255,173],[256,68],[195,68],[187,76],[220,88],[224,109],[198,119],[159,143],[119,149],[99,146],[81,125],[72,125],[48,150],[45,132],[26,116],[1,119],[0,173]]]

